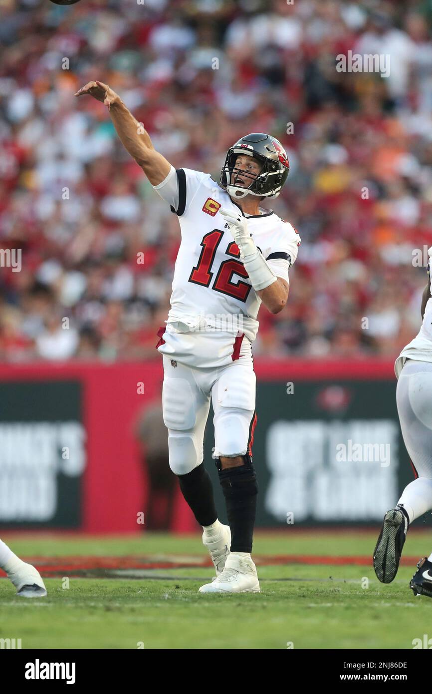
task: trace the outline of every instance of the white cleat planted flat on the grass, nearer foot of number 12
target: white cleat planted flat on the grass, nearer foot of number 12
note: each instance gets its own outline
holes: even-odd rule
[[[225,568],[213,583],[201,586],[199,593],[261,593],[257,568],[243,552],[230,552]]]

